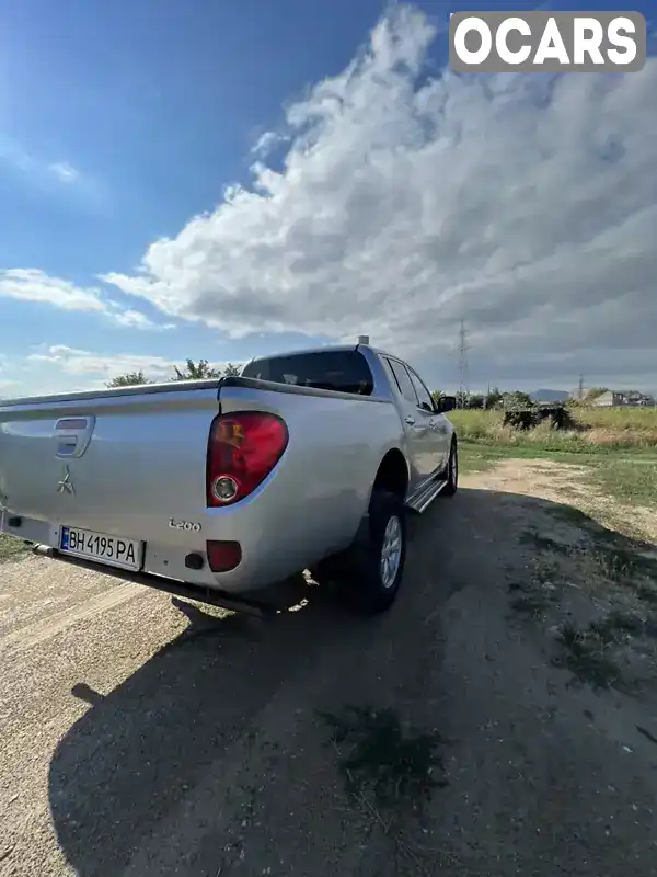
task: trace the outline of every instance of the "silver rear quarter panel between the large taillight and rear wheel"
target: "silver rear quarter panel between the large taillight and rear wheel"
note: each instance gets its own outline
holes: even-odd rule
[[[306,389],[296,394],[227,387],[220,398],[222,413],[268,410],[279,414],[288,425],[289,443],[278,466],[251,497],[232,509],[211,512],[218,522],[224,521],[219,528],[234,527],[235,537],[246,525],[266,532],[269,566],[276,574],[303,569],[346,547],[367,511],[384,454],[400,446],[394,406],[388,400]],[[274,551],[272,545],[277,546]]]

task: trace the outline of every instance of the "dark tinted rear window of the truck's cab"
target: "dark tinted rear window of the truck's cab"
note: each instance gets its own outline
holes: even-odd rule
[[[356,350],[292,353],[249,363],[242,377],[371,396],[374,385],[365,356]]]

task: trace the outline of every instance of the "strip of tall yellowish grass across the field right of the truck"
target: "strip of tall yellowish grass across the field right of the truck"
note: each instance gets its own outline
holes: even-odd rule
[[[474,444],[535,447],[569,453],[609,453],[619,449],[657,449],[657,409],[574,408],[574,430],[554,430],[545,422],[533,430],[503,425],[502,411],[450,412],[462,441]]]

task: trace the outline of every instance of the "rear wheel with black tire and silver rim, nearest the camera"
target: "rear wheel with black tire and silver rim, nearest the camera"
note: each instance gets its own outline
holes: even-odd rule
[[[400,497],[374,488],[368,516],[344,556],[345,595],[368,615],[388,610],[400,590],[406,561],[405,511]]]

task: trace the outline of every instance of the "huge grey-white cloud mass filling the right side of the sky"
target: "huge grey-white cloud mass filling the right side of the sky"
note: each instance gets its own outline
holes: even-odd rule
[[[657,59],[430,77],[434,36],[395,8],[288,107],[280,169],[104,280],[232,335],[368,331],[430,362],[463,317],[487,373],[657,371]]]

